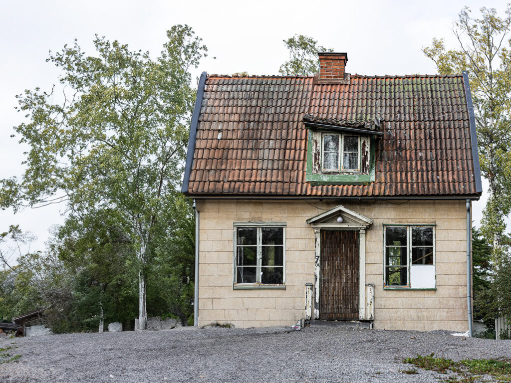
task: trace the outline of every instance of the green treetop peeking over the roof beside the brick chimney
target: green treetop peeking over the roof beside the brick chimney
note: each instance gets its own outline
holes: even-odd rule
[[[296,34],[283,41],[289,50],[290,58],[278,69],[278,73],[284,76],[305,76],[318,73],[318,52],[333,52],[333,49],[318,45],[317,40],[309,36]]]

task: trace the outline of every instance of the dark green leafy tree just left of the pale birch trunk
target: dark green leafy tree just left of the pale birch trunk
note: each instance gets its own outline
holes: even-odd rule
[[[69,327],[92,330],[101,319],[129,328],[136,314],[136,248],[114,210],[68,218],[51,246],[74,276]],[[101,315],[103,311],[104,315]]]

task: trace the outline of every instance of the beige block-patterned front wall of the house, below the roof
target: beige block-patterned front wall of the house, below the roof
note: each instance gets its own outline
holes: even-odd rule
[[[314,229],[306,220],[337,205],[374,221],[366,231],[365,283],[375,284],[375,328],[466,331],[464,201],[199,200],[199,326],[292,325],[314,283]],[[286,289],[233,289],[233,223],[286,222]],[[383,224],[436,225],[436,291],[383,289]]]

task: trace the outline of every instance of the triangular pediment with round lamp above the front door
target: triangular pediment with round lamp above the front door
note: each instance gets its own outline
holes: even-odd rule
[[[339,217],[342,218],[342,222],[338,222],[337,219]],[[356,211],[338,205],[317,216],[309,218],[307,223],[311,225],[311,227],[366,229],[373,223],[373,220],[362,216],[362,214]]]

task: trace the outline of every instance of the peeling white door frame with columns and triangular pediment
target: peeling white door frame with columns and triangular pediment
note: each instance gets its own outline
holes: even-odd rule
[[[342,217],[341,223],[336,218]],[[365,230],[373,220],[338,205],[318,216],[309,218],[307,223],[314,228],[314,319],[319,319],[319,295],[321,275],[321,230],[357,230],[359,231],[359,320],[365,320]],[[368,313],[367,316],[370,316]]]

